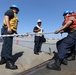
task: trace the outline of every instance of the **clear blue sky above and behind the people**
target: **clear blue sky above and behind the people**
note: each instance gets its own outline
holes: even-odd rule
[[[44,32],[55,32],[62,26],[63,12],[76,11],[76,0],[1,0],[0,1],[0,29],[3,25],[4,13],[11,5],[17,5],[19,24],[18,34],[32,33],[37,20],[42,20]],[[46,37],[61,38],[60,34],[46,34]]]

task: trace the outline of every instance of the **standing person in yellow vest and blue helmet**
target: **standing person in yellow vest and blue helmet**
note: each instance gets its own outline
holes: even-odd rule
[[[5,12],[4,22],[1,29],[2,35],[11,35],[17,33],[18,17],[16,14],[18,14],[18,12],[19,8],[16,5],[10,6],[9,10]],[[18,67],[13,63],[12,45],[13,37],[3,37],[0,65],[6,63],[6,68],[14,70]]]

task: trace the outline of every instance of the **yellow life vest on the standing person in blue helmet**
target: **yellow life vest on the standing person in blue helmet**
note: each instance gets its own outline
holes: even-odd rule
[[[4,21],[4,25],[7,25],[5,21]],[[18,18],[16,16],[16,14],[14,13],[14,18],[12,18],[10,20],[10,27],[11,27],[12,30],[16,31],[17,30],[17,25],[18,25]]]

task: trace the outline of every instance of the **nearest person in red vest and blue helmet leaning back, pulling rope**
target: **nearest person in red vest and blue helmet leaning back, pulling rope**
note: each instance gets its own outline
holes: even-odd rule
[[[56,56],[55,62],[53,64],[48,64],[48,69],[60,71],[61,64],[65,58],[66,53],[68,52],[70,47],[76,44],[76,19],[74,17],[68,18],[69,14],[69,11],[65,11],[63,13],[63,16],[66,19],[66,23],[59,30],[55,31],[55,34],[58,34],[66,29],[68,31],[68,35],[63,39],[63,41],[61,41],[60,45],[57,47],[59,52]]]

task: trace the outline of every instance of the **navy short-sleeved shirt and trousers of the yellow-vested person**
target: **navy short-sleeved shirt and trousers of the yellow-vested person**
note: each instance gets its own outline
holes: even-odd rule
[[[14,12],[12,10],[7,10],[4,15],[9,16],[9,20],[14,18]],[[7,25],[3,25],[1,29],[2,35],[10,35],[13,33],[14,31],[12,31],[12,33],[8,33]],[[8,59],[12,60],[12,44],[13,44],[13,37],[3,37],[1,58],[4,57],[6,60]]]

